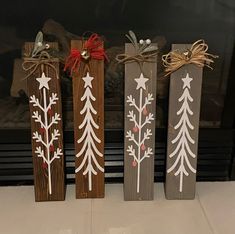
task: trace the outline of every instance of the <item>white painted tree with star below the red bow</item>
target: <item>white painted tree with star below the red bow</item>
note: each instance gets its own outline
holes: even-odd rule
[[[80,111],[81,115],[84,115],[82,123],[79,125],[79,129],[84,129],[82,136],[78,139],[78,144],[83,142],[83,146],[76,157],[83,157],[83,160],[75,172],[82,170],[86,166],[83,175],[88,174],[88,187],[89,191],[92,190],[92,175],[97,175],[97,171],[104,172],[104,168],[100,166],[97,161],[96,155],[103,157],[103,154],[97,149],[96,144],[100,144],[101,140],[96,136],[94,129],[99,129],[99,126],[95,123],[93,115],[97,114],[97,111],[92,105],[92,101],[96,101],[96,98],[92,94],[92,80],[89,72],[82,78],[84,83],[85,92],[81,97],[81,101],[85,102],[83,109]],[[97,169],[97,170],[96,170]]]

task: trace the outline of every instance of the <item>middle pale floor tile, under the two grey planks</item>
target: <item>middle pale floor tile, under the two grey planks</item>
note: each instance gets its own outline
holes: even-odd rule
[[[92,200],[92,234],[212,234],[197,198],[166,200],[155,184],[154,201],[123,201],[123,185],[106,185],[106,198]]]

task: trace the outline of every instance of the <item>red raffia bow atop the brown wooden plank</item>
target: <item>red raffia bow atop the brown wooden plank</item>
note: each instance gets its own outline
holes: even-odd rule
[[[66,59],[64,71],[70,70],[70,74],[79,69],[83,57],[83,52],[87,52],[89,58],[103,60],[108,59],[105,50],[101,48],[102,40],[98,34],[93,33],[84,43],[82,52],[78,49],[71,49],[70,55]]]

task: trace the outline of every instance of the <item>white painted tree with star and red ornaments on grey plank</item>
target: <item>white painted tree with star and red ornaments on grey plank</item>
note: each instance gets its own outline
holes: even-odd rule
[[[134,143],[127,147],[127,152],[133,157],[132,166],[137,166],[137,193],[140,192],[141,163],[144,159],[153,155],[152,148],[145,146],[146,141],[152,136],[151,129],[146,128],[146,125],[151,124],[151,121],[154,120],[153,114],[147,111],[147,106],[154,100],[153,94],[146,92],[145,83],[148,80],[148,78],[143,76],[143,73],[140,74],[139,78],[135,79],[137,82],[136,90],[139,90],[138,103],[132,95],[127,96],[127,103],[134,108],[134,110],[130,110],[127,115],[129,121],[134,123],[132,131],[127,131],[126,135],[129,141]],[[146,96],[143,95],[143,92]]]

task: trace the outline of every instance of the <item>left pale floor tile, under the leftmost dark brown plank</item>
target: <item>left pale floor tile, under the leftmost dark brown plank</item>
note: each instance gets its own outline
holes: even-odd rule
[[[61,202],[34,202],[32,186],[0,187],[0,233],[90,234],[91,200],[76,200],[74,185]]]

